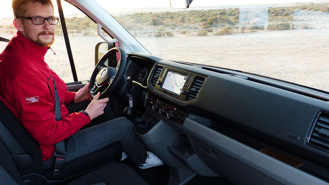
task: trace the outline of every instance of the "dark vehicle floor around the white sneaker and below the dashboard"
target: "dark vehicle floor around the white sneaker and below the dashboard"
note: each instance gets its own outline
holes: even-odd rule
[[[167,165],[156,166],[148,169],[139,169],[129,158],[121,161],[132,167],[150,185],[166,185],[169,179],[169,169]],[[205,177],[196,175],[187,185],[233,185],[223,177]]]

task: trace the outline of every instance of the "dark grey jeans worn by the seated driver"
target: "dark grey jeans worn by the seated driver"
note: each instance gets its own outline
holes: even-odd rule
[[[133,163],[144,163],[146,149],[135,135],[135,125],[125,117],[79,130],[65,139],[67,157],[65,162],[81,157],[107,145],[120,141],[123,150]],[[54,157],[43,161],[44,169],[52,168]]]

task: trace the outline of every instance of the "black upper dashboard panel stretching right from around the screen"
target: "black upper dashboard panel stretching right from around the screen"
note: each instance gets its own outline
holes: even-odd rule
[[[187,113],[187,117],[195,115],[211,120],[212,129],[228,128],[225,134],[240,138],[241,143],[252,145],[254,140],[260,141],[263,145],[276,148],[286,155],[297,157],[302,162],[305,161],[301,169],[308,173],[314,174],[316,168],[311,167],[314,164],[321,166],[324,178],[329,174],[329,153],[306,145],[306,138],[318,112],[329,111],[329,104],[324,101],[329,98],[328,95],[323,95],[326,96],[323,99],[316,99],[286,90],[296,88],[303,91],[291,84],[275,81],[273,83],[281,83],[281,88],[272,86],[265,77],[226,69],[207,70],[206,67],[167,61],[141,53],[130,55],[154,61],[147,81],[148,93],[151,96],[180,108]],[[159,69],[158,66],[162,68]],[[182,99],[181,96],[173,96],[162,91],[158,84],[154,85],[154,81],[163,80],[161,75],[164,68],[205,78],[193,101],[187,101],[186,97]],[[156,77],[158,79],[154,79],[157,70],[160,74]],[[190,84],[188,87],[190,90]],[[199,123],[203,124],[202,121]],[[239,133],[246,137],[235,137]]]

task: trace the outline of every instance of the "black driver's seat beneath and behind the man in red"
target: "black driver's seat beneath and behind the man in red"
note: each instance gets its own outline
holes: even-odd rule
[[[41,149],[36,140],[26,130],[23,124],[17,119],[12,111],[0,101],[0,121],[7,127],[11,134],[17,139],[21,146],[31,155],[33,162],[30,167],[19,170],[21,176],[37,173],[43,174],[46,178],[53,178],[53,169],[43,172]],[[122,147],[120,142],[115,142],[107,147],[79,157],[65,163],[63,170],[58,175],[59,180],[87,172],[97,167],[118,161],[121,158]]]

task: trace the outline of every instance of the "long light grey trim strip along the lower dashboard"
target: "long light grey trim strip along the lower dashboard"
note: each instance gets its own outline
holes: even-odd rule
[[[189,118],[186,118],[180,129],[280,183],[287,185],[329,184]]]

